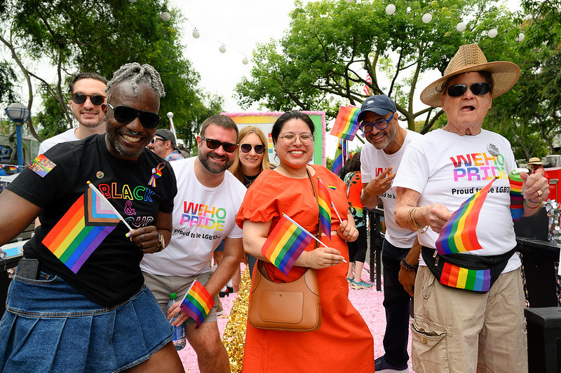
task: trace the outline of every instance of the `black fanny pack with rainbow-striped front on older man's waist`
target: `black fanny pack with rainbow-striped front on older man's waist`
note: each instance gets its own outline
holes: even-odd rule
[[[428,269],[444,286],[487,293],[505,269],[516,248],[501,255],[440,255],[435,248],[423,246],[421,255]]]

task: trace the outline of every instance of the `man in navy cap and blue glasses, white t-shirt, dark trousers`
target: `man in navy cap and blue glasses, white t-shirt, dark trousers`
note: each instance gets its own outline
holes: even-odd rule
[[[384,309],[386,309],[385,355],[375,360],[377,373],[408,372],[407,339],[409,338],[409,305],[413,291],[405,290],[399,281],[402,260],[412,247],[416,232],[399,227],[393,218],[396,192],[391,188],[405,147],[421,136],[400,127],[396,104],[384,94],[368,97],[358,114],[358,124],[367,143],[360,153],[363,194],[360,200],[374,209],[384,202],[386,235],[381,252],[384,266]],[[417,263],[415,263],[417,264]],[[407,265],[407,262],[405,262]],[[414,266],[405,267],[414,281]]]

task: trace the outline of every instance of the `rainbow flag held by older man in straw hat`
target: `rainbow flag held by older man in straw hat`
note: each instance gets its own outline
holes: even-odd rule
[[[442,226],[440,235],[436,240],[436,250],[440,255],[463,253],[464,251],[480,250],[475,229],[478,226],[479,213],[483,202],[487,198],[491,185],[498,178],[485,185],[485,188],[469,197],[461,204],[450,219]]]

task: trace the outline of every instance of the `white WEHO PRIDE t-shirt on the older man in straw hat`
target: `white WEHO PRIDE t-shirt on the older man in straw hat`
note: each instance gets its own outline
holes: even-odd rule
[[[485,129],[475,136],[436,129],[407,148],[393,186],[421,193],[419,206],[440,203],[453,213],[498,175],[482,204],[476,228],[483,248],[465,254],[499,255],[516,246],[508,182],[514,168],[511,143],[503,136]],[[436,239],[438,233],[430,227],[419,234],[423,246],[435,248]],[[422,257],[420,264],[424,265]],[[518,267],[520,258],[513,255],[503,272]]]

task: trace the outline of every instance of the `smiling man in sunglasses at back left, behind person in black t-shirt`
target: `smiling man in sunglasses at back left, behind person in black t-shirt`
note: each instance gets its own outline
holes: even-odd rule
[[[107,79],[97,73],[79,73],[70,80],[68,89],[72,94],[70,109],[78,120],[78,127],[43,141],[39,146],[39,154],[45,153],[58,143],[77,141],[93,134],[105,133]]]

